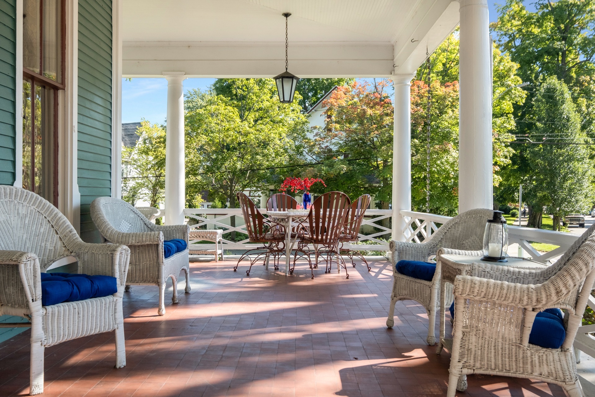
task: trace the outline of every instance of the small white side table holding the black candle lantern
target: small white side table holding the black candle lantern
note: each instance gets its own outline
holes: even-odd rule
[[[455,284],[456,276],[468,276],[471,270],[477,265],[491,264],[499,266],[509,266],[519,269],[534,269],[547,267],[543,263],[529,260],[527,258],[506,257],[508,262],[486,262],[482,261],[480,256],[469,255],[438,255],[436,261],[440,261],[440,338],[436,346],[436,353],[440,354],[442,348],[452,352],[452,338],[444,337],[444,314],[446,312],[446,283],[449,283],[449,289],[452,295],[452,286]],[[438,268],[438,266],[437,266]]]

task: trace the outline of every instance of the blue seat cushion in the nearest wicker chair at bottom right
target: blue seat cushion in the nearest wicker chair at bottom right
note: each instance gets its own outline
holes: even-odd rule
[[[450,305],[450,315],[455,318],[455,302]],[[566,338],[562,310],[552,308],[540,311],[533,321],[529,343],[548,349],[559,349]]]

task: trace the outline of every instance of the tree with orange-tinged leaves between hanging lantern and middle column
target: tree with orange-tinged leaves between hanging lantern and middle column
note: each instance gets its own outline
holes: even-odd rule
[[[322,102],[325,125],[314,135],[311,152],[323,161],[318,177],[327,189],[348,195],[375,195],[389,208],[392,192],[393,104],[388,80],[352,82]],[[320,187],[317,187],[320,189]]]

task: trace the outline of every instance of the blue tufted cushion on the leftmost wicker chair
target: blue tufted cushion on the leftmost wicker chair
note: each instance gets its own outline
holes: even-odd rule
[[[111,276],[89,274],[41,273],[41,301],[43,306],[62,302],[101,298],[118,291],[117,280]]]

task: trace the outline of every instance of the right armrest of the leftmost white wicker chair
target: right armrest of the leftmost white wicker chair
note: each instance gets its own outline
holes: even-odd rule
[[[126,245],[80,242],[73,248],[82,273],[112,276],[117,279],[118,286],[126,284],[130,262],[130,248]]]

